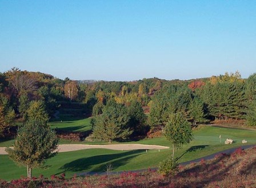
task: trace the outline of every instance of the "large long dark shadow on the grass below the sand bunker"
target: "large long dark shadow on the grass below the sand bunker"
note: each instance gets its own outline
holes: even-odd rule
[[[63,171],[61,171],[58,174],[66,173],[67,171],[82,172],[82,171],[91,169],[91,167],[95,165],[99,165],[99,166],[94,167],[93,169],[91,169],[91,171],[92,170],[94,172],[106,171],[106,165],[110,163],[111,165],[113,165],[114,167],[113,170],[114,170],[119,166],[125,165],[129,160],[131,160],[136,156],[139,156],[142,153],[145,153],[145,150],[133,150],[133,151],[118,153],[118,154],[106,154],[106,155],[99,155],[99,156],[93,156],[93,157],[87,157],[87,158],[79,158],[78,160],[74,160],[60,167],[59,169]],[[58,174],[55,174],[55,175],[58,175]]]

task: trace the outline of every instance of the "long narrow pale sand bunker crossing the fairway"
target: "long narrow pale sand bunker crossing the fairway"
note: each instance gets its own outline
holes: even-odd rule
[[[84,144],[61,144],[58,146],[59,152],[72,152],[82,149],[112,149],[112,150],[137,150],[137,149],[169,149],[166,146],[144,145],[144,144],[109,144],[109,145],[84,145]],[[0,154],[5,155],[5,147],[0,147]]]

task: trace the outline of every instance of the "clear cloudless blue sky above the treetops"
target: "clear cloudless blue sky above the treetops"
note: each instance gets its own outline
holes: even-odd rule
[[[256,72],[256,1],[0,1],[0,72],[74,80]]]

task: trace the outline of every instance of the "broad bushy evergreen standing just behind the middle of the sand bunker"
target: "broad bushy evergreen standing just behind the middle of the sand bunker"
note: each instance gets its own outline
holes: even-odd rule
[[[110,100],[103,108],[102,115],[92,121],[93,135],[109,142],[117,138],[125,139],[132,133],[128,127],[129,119],[125,105]]]

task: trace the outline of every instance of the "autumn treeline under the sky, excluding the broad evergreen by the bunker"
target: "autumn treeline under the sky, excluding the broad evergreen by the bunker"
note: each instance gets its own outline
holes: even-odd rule
[[[87,116],[97,116],[109,100],[127,107],[137,101],[149,114],[151,128],[165,125],[177,112],[193,124],[232,118],[254,126],[256,74],[247,79],[235,72],[192,80],[75,81],[14,67],[0,73],[0,132],[14,120],[26,120],[33,101],[40,101],[50,118],[62,103],[83,103]]]

